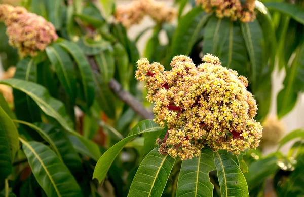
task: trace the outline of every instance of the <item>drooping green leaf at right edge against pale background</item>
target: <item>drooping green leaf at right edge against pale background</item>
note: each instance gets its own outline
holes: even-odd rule
[[[297,48],[291,67],[287,68],[283,84],[284,88],[277,97],[278,118],[282,118],[292,110],[298,92],[304,91],[304,47]]]

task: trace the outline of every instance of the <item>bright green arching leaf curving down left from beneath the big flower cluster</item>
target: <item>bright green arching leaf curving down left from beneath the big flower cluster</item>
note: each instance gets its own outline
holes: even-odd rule
[[[101,183],[104,180],[113,161],[128,142],[132,141],[135,137],[145,132],[157,132],[162,129],[163,127],[158,126],[152,120],[143,120],[139,122],[131,130],[128,137],[126,137],[125,139],[121,140],[120,142],[109,148],[100,157],[94,169],[93,179],[97,178],[99,183]]]

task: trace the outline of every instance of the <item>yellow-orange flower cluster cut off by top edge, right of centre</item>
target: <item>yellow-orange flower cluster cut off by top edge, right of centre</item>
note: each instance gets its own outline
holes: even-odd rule
[[[231,18],[233,21],[239,19],[241,22],[250,22],[255,19],[255,0],[196,0],[206,12],[215,11],[218,18]]]

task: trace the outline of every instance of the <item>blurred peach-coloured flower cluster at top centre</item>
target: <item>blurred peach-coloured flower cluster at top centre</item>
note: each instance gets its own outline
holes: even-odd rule
[[[116,20],[126,28],[140,23],[146,15],[157,23],[164,23],[176,16],[176,10],[154,0],[135,0],[129,6],[119,6],[115,12]]]

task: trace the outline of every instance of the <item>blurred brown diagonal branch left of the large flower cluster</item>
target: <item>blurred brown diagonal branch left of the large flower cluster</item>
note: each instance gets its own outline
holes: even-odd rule
[[[87,58],[91,64],[92,69],[99,72],[99,68],[94,57],[88,56]],[[142,103],[140,103],[130,92],[125,91],[118,81],[112,78],[110,79],[108,85],[112,92],[115,93],[121,101],[130,106],[134,112],[138,113],[144,119],[154,118],[153,114],[148,112]]]

